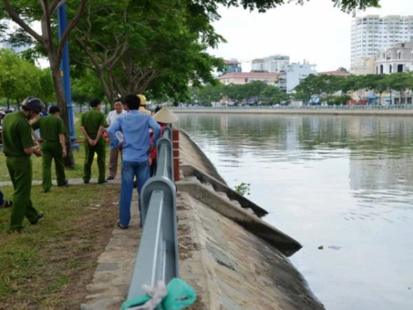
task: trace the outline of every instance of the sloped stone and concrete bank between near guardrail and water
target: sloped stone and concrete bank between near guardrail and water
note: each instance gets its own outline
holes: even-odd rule
[[[180,276],[198,293],[191,309],[324,309],[286,256],[301,245],[260,219],[202,150],[180,134],[177,186]]]

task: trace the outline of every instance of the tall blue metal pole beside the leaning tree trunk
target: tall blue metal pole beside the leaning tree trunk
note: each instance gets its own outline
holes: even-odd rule
[[[63,32],[66,29],[66,3],[63,3],[57,11],[57,19],[59,23],[59,40],[61,39]],[[61,60],[61,72],[63,81],[63,90],[65,91],[67,116],[69,119],[69,134],[70,142],[72,143],[72,149],[79,149],[76,143],[76,135],[74,132],[74,114],[72,106],[72,94],[70,91],[70,69],[69,69],[69,43],[63,45],[63,56]]]

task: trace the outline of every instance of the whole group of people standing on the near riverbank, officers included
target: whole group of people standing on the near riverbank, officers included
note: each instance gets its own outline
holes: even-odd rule
[[[136,178],[138,194],[140,194],[142,186],[151,175],[149,154],[153,154],[156,141],[160,136],[160,124],[165,125],[164,122],[171,123],[178,119],[165,107],[169,116],[159,119],[159,124],[156,121],[157,114],[165,115],[165,111],[160,110],[153,117],[151,112],[145,109],[145,103],[145,96],[130,94],[125,97],[125,101],[117,99],[114,102],[114,110],[109,112],[106,118],[101,112],[100,100],[92,99],[89,101],[90,110],[81,116],[81,132],[85,137],[83,183],[87,184],[90,181],[94,154],[97,155],[98,183],[100,184],[116,177],[119,154],[122,156],[117,222],[117,226],[122,229],[128,228],[131,218],[130,206],[134,178]],[[47,116],[39,118],[43,107],[40,99],[28,97],[21,104],[20,111],[11,113],[3,121],[3,152],[6,155],[6,165],[14,187],[14,194],[12,203],[10,200],[4,200],[0,192],[0,208],[13,205],[10,231],[26,231],[23,227],[24,218],[28,218],[29,222],[34,225],[44,216],[42,211],[39,212],[33,207],[30,199],[31,154],[43,156],[43,192],[50,192],[52,187],[52,158],[56,165],[57,185],[67,185],[63,165],[63,158],[67,153],[65,125],[59,117],[60,110],[56,105],[50,106]],[[34,119],[36,121],[33,121]],[[33,130],[40,130],[41,138],[36,139],[39,143],[34,141]],[[107,179],[105,178],[105,130],[110,138]],[[140,220],[142,223],[142,218]]]

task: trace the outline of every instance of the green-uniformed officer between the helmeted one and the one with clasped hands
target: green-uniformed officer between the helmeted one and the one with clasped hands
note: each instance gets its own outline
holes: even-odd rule
[[[52,187],[52,159],[56,167],[57,186],[67,184],[63,158],[66,156],[65,134],[66,127],[59,117],[60,109],[56,105],[49,107],[49,115],[39,118],[32,123],[33,130],[40,130],[41,151],[43,152],[43,192],[50,192]]]

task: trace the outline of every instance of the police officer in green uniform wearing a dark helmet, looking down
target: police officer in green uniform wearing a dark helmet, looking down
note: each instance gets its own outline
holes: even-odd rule
[[[6,115],[3,121],[3,152],[6,165],[12,179],[13,207],[10,218],[10,231],[24,232],[24,218],[36,224],[44,213],[38,212],[32,205],[32,160],[31,154],[41,156],[39,145],[32,138],[32,127],[28,121],[43,110],[43,103],[36,97],[28,97],[21,103],[21,110]]]

